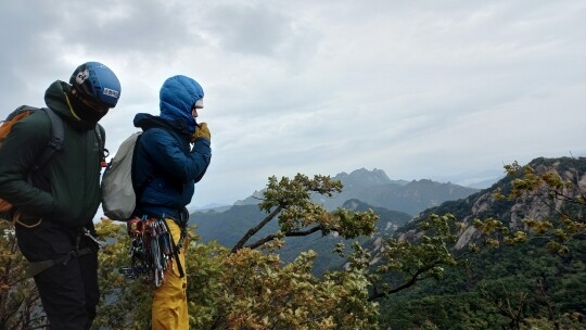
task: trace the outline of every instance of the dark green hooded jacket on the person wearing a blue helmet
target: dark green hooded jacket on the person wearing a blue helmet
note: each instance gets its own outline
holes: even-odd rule
[[[95,124],[81,122],[65,92],[71,89],[55,81],[44,93],[44,102],[63,119],[63,150],[43,168],[28,173],[34,161],[48,147],[51,122],[43,111],[20,120],[0,148],[0,196],[23,213],[23,218],[43,218],[67,227],[91,224],[101,201],[100,142]],[[102,139],[104,130],[98,125]]]

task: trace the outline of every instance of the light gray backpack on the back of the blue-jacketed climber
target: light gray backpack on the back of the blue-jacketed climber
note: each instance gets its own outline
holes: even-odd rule
[[[102,176],[102,208],[112,220],[129,220],[137,206],[132,158],[141,135],[142,131],[137,131],[124,140]]]

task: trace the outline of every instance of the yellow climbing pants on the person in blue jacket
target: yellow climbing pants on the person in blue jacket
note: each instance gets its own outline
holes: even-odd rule
[[[165,221],[169,227],[173,240],[177,244],[181,236],[181,229],[170,218]],[[186,267],[186,252],[188,242],[179,252],[179,263],[183,271]],[[163,284],[154,290],[152,308],[153,330],[187,330],[189,329],[188,303],[187,303],[187,274],[183,278],[179,275],[179,268],[175,258],[165,270]]]

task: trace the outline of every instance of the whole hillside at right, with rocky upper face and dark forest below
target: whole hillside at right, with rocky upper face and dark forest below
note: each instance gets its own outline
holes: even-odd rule
[[[455,249],[469,263],[466,268],[446,269],[441,281],[424,282],[383,301],[381,327],[586,329],[586,234],[579,229],[586,215],[586,158],[536,158],[528,166],[534,172],[520,172],[466,200],[430,208],[398,229],[397,234],[408,239],[417,236],[418,224],[431,214],[454,214],[467,227]],[[527,174],[531,180],[523,181]],[[573,185],[560,185],[558,175]],[[538,176],[560,190],[532,186]],[[520,187],[531,193],[497,198]],[[526,230],[532,224],[558,229],[548,232],[537,227],[527,240],[470,254],[462,249],[467,244],[495,243],[473,226],[476,219],[492,219],[492,224],[498,219],[504,233]],[[578,226],[576,231],[559,227],[570,219]]]

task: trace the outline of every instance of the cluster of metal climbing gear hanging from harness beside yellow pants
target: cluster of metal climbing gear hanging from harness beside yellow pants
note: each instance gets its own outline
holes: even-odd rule
[[[128,221],[128,234],[132,238],[128,252],[131,265],[122,267],[120,272],[130,279],[142,276],[144,281],[153,280],[155,287],[161,287],[165,269],[175,255],[165,217],[135,217]]]

